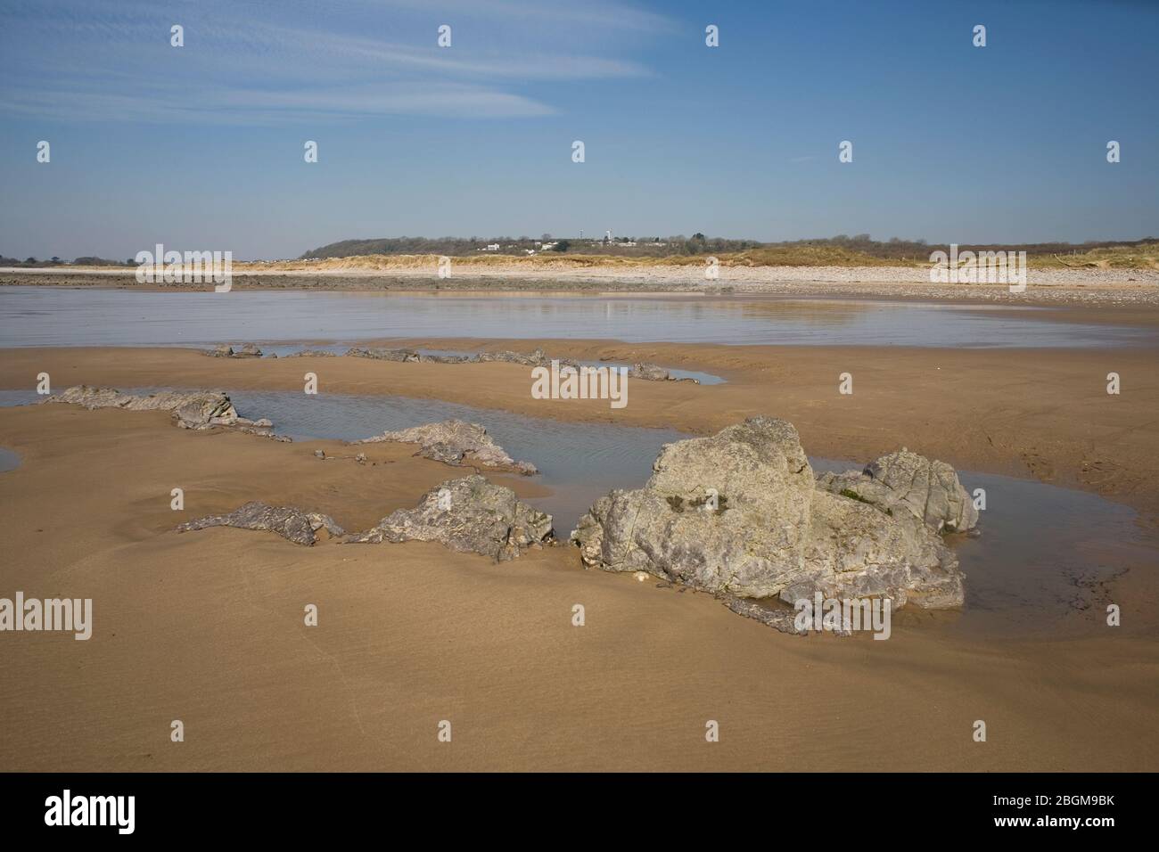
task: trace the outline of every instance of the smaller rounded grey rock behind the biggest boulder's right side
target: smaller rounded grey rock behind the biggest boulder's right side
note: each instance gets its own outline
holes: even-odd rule
[[[819,474],[817,487],[869,503],[895,518],[913,517],[934,530],[965,532],[978,523],[978,510],[954,468],[904,447],[860,472]]]

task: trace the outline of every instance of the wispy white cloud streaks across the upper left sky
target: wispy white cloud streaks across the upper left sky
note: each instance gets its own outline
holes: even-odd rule
[[[438,20],[454,21],[451,49]],[[185,46],[169,46],[169,27]],[[119,121],[252,123],[305,116],[523,117],[553,105],[520,88],[644,78],[618,37],[659,15],[597,0],[410,0],[290,6],[43,0],[0,8],[0,110]]]

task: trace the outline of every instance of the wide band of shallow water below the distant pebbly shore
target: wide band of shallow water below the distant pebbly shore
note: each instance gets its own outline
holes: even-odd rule
[[[1030,319],[1043,308],[854,299],[401,296],[0,287],[0,347],[210,345],[389,337],[1111,347],[1147,329]]]

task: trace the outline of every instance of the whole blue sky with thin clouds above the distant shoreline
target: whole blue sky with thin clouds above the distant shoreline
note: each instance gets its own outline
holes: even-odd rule
[[[1142,0],[0,0],[0,254],[1159,235],[1156,45]]]

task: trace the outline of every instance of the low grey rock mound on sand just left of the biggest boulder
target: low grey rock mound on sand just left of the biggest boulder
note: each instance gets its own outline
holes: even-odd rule
[[[399,509],[345,541],[438,541],[452,551],[500,561],[552,539],[551,515],[520,502],[510,488],[475,474],[436,486],[414,509]]]

